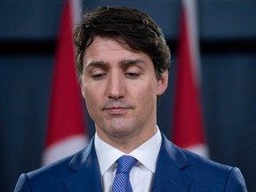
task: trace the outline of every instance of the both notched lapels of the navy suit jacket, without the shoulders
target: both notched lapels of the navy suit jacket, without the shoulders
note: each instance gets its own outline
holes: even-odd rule
[[[182,150],[162,134],[152,191],[187,192],[193,182],[193,179],[184,172],[189,165]],[[67,191],[102,191],[100,166],[94,148],[94,138],[84,150],[71,159],[68,168],[76,173],[64,180]]]

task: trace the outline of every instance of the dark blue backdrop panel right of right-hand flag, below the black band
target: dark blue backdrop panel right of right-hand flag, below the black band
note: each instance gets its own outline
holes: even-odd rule
[[[256,174],[256,55],[205,54],[202,57],[204,123],[211,158],[238,166],[249,191]]]

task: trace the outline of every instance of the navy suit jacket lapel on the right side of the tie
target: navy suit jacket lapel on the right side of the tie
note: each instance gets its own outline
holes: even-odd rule
[[[162,134],[152,191],[187,192],[192,178],[182,170],[189,166],[186,156]]]

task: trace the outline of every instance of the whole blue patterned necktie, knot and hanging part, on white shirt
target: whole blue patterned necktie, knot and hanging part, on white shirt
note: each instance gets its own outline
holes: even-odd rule
[[[117,159],[116,177],[113,182],[112,192],[132,192],[129,173],[137,159],[132,156],[121,156]]]

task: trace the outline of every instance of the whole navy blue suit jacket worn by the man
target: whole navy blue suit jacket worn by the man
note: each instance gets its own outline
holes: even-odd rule
[[[178,148],[163,134],[162,139],[151,191],[247,191],[238,168],[217,164]],[[141,183],[143,184],[143,178]],[[34,172],[21,174],[14,191],[102,191],[93,139],[86,148],[73,156]]]

